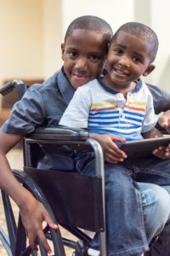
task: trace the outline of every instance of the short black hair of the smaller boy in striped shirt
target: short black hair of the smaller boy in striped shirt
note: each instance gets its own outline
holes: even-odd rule
[[[156,36],[156,32],[154,32],[149,26],[139,22],[127,22],[118,28],[111,42],[116,39],[118,33],[121,31],[130,33],[136,37],[150,42],[150,44],[153,44],[153,50],[150,53],[150,61],[153,62],[155,60],[159,42]]]

